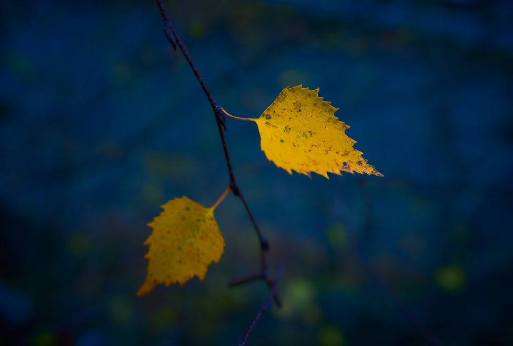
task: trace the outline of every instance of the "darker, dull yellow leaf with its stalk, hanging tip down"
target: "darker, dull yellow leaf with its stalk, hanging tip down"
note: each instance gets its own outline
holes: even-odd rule
[[[153,228],[144,242],[149,247],[145,255],[148,275],[138,296],[149,293],[157,283],[182,286],[193,276],[205,278],[208,265],[219,261],[224,251],[225,242],[213,214],[219,202],[205,208],[183,196],[162,206],[164,211],[148,223]]]

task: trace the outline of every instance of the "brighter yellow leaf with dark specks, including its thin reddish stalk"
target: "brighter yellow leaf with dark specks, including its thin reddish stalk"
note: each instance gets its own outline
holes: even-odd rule
[[[315,172],[329,178],[327,173],[344,171],[383,176],[353,148],[356,141],[345,134],[349,126],[334,116],[337,110],[319,97],[319,89],[298,85],[283,89],[259,118],[238,119],[257,123],[262,151],[290,174]]]

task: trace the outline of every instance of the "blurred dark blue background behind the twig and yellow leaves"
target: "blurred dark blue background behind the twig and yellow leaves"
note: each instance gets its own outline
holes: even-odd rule
[[[427,345],[415,319],[445,345],[513,344],[513,3],[164,3],[220,106],[258,117],[286,86],[320,88],[385,175],[290,176],[227,119],[271,273],[285,264],[283,308],[248,345]],[[267,288],[227,288],[259,266],[234,196],[205,280],[135,296],[160,206],[228,184],[155,2],[0,6],[0,343],[238,343]]]

